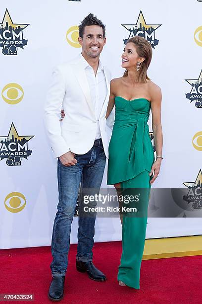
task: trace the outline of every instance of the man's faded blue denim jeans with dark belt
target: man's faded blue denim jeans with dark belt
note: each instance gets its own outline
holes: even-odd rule
[[[99,188],[103,177],[106,156],[102,143],[85,154],[75,154],[77,163],[64,166],[59,158],[57,163],[57,179],[59,202],[54,220],[51,242],[52,276],[65,276],[68,265],[69,238],[79,187]],[[82,202],[81,202],[82,203]],[[93,260],[92,248],[95,234],[94,217],[79,217],[77,260],[87,262]]]

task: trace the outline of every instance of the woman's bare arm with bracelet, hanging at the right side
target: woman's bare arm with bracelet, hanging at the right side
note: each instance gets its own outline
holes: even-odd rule
[[[158,85],[152,84],[151,87],[151,108],[152,108],[152,131],[154,137],[154,146],[156,149],[156,156],[162,156],[162,147],[163,147],[163,135],[161,127],[161,100],[162,94],[161,89]],[[156,158],[156,161],[152,165],[152,170],[150,175],[152,175],[154,170],[154,175],[150,183],[152,184],[158,173],[160,171],[162,159],[160,157]]]

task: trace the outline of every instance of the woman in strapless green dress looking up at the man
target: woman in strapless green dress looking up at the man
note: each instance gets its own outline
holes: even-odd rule
[[[122,54],[122,67],[126,71],[122,77],[111,80],[106,113],[107,118],[115,105],[115,122],[109,143],[107,185],[114,185],[117,193],[127,188],[148,190],[140,201],[141,211],[145,216],[124,214],[121,219],[123,251],[118,281],[121,286],[127,285],[135,289],[140,289],[140,267],[151,184],[158,176],[163,158],[161,89],[147,76],[151,59],[152,47],[146,39],[135,36],[127,41]],[[147,124],[150,109],[156,160]]]

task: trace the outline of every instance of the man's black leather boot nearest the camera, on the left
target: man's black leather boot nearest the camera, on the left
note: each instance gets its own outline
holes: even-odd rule
[[[53,277],[49,289],[49,299],[51,301],[60,301],[64,296],[65,277]]]

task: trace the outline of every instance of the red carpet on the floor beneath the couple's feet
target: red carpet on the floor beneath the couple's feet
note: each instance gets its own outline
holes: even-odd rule
[[[76,271],[76,245],[71,245],[65,297],[60,303],[202,303],[202,256],[142,261],[140,290],[135,290],[116,281],[120,254],[121,242],[95,243],[94,263],[107,275],[107,281],[95,282]],[[50,262],[50,247],[0,250],[0,293],[34,294],[31,303],[51,303],[47,297]]]

